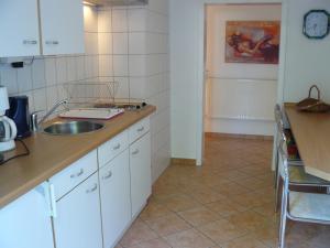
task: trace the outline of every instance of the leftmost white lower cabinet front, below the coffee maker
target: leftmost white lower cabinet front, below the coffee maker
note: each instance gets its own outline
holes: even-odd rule
[[[1,248],[54,248],[52,220],[40,186],[0,209]]]

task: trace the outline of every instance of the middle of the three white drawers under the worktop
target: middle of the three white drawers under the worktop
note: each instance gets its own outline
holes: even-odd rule
[[[124,131],[98,148],[99,166],[106,165],[129,147],[129,133]]]

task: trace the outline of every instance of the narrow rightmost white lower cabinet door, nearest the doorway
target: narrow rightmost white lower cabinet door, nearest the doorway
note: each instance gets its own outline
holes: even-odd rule
[[[152,192],[150,132],[130,147],[132,217],[145,205]]]

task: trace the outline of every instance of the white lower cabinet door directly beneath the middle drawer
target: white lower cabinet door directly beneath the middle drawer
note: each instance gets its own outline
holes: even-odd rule
[[[99,176],[103,247],[111,248],[131,222],[129,151],[102,168]]]

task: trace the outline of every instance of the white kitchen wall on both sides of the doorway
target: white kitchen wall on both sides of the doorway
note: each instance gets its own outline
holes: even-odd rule
[[[324,98],[330,89],[329,39],[308,41],[301,35],[302,15],[309,9],[326,8],[329,0],[170,0],[170,87],[172,87],[172,155],[199,159],[201,126],[198,109],[202,99],[202,35],[205,3],[262,3],[283,2],[287,46],[285,54],[284,100],[305,97],[309,82],[324,82],[321,85]],[[282,72],[282,69],[279,69]],[[327,86],[326,86],[327,85]],[[327,88],[326,88],[327,87]],[[282,89],[282,87],[280,87]],[[280,99],[279,99],[280,100]]]

